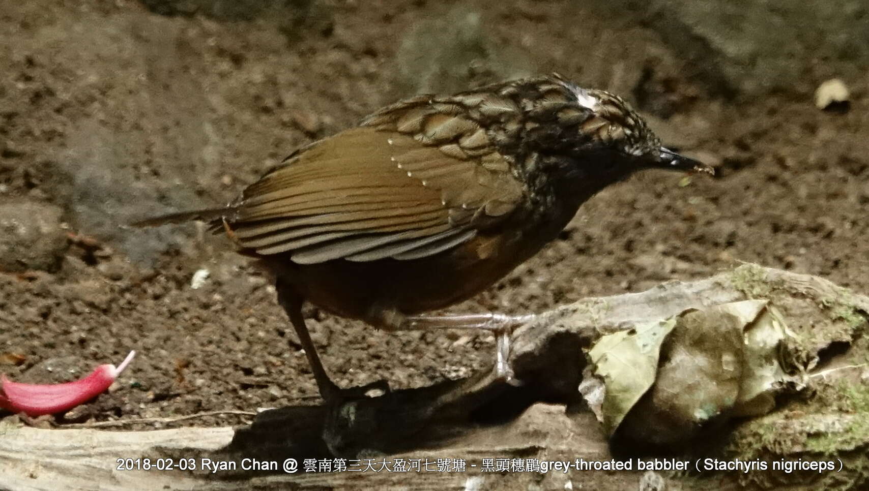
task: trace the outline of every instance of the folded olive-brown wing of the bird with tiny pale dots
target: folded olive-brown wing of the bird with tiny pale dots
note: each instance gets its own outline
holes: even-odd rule
[[[319,141],[248,187],[228,220],[240,245],[300,264],[417,259],[511,213],[525,196],[486,134],[461,115],[413,113],[420,104]]]

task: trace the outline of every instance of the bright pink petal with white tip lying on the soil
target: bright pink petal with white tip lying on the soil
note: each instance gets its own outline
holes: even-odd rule
[[[89,376],[75,382],[17,383],[5,375],[0,376],[0,408],[28,416],[50,415],[75,408],[109,389],[135,356],[136,351],[130,351],[117,368],[110,364],[100,365]]]

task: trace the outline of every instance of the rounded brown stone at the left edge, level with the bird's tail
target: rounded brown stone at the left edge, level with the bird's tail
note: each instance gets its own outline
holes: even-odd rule
[[[70,246],[62,214],[37,201],[0,205],[0,271],[57,271]]]

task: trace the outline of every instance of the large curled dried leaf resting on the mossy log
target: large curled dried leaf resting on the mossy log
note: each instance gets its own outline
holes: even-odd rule
[[[683,311],[601,337],[580,392],[608,435],[681,442],[712,420],[772,410],[792,379],[779,357],[788,337],[766,300]]]

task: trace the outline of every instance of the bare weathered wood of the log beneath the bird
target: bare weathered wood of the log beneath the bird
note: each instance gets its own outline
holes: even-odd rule
[[[448,457],[466,459],[468,466],[479,466],[483,457],[608,460],[612,455],[598,423],[590,412],[579,409],[577,387],[585,365],[582,349],[603,334],[642,321],[749,296],[770,298],[789,325],[794,320],[795,330],[811,324],[812,346],[807,350],[816,349],[809,355],[817,355],[834,341],[852,341],[857,331],[854,318],[847,316],[859,320],[869,312],[869,298],[822,278],[743,265],[713,278],[586,298],[541,313],[514,332],[511,359],[524,382],[520,387],[502,383],[487,371],[459,381],[329,406],[273,409],[240,429],[119,432],[34,429],[7,423],[0,427],[0,488],[278,489],[291,482],[298,489],[526,489],[531,484],[561,489],[568,480],[573,488],[636,488],[641,473],[550,472],[541,478],[538,473],[488,474],[468,467],[466,472],[453,473],[286,475],[280,469],[242,469],[241,463],[246,458],[280,464],[294,458],[302,470],[304,459],[335,456],[376,456],[376,461],[385,455],[390,460],[396,456],[431,461]],[[819,330],[821,324],[829,329]],[[140,463],[139,469],[117,470],[117,459],[127,457],[149,458],[155,467],[156,459],[172,459],[176,466],[182,459],[194,459],[196,469],[145,470]],[[212,473],[202,468],[206,462],[202,459],[235,462],[236,468]]]

